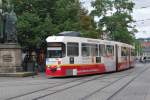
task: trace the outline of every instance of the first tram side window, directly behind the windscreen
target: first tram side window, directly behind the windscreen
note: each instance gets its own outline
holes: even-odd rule
[[[79,56],[79,44],[78,43],[67,43],[67,56]]]

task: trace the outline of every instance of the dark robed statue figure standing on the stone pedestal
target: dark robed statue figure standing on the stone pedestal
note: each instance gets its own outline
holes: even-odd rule
[[[2,5],[2,0],[0,0],[0,3]],[[17,36],[16,36],[17,16],[10,2],[7,2],[6,9],[7,9],[6,11],[3,11],[3,9],[1,9],[1,13],[0,13],[0,22],[1,22],[0,42],[16,43],[17,42]]]

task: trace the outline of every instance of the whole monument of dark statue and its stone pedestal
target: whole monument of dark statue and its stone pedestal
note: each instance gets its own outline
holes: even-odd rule
[[[0,0],[0,73],[21,72],[21,47],[17,42],[17,17],[7,0],[6,10]]]

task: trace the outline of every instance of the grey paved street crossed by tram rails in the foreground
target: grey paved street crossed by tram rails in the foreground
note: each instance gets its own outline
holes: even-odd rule
[[[150,64],[111,74],[49,78],[0,77],[0,100],[149,100]]]

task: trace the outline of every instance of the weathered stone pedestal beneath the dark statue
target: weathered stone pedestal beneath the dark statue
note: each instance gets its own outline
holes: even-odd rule
[[[21,47],[15,43],[0,44],[0,73],[16,73],[22,71]]]

